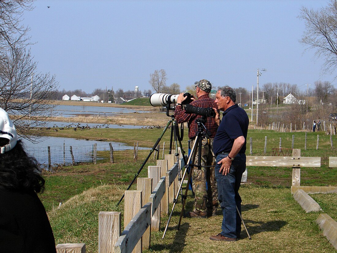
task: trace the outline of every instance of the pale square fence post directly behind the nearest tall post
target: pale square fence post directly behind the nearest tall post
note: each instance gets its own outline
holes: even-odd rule
[[[132,218],[142,209],[142,192],[141,191],[125,191],[124,197],[124,227],[129,224]],[[132,253],[142,252],[142,238],[134,247]]]

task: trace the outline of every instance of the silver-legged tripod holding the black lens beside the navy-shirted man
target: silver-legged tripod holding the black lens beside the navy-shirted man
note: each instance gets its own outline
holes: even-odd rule
[[[187,186],[186,186],[185,194],[182,195],[182,208],[181,208],[181,213],[180,213],[180,218],[179,218],[179,223],[178,223],[178,228],[177,228],[178,230],[180,229],[180,224],[181,224],[182,216],[185,217],[184,207],[185,207],[185,203],[186,203],[186,199],[187,199],[187,193],[188,193],[188,189],[189,189],[189,184],[191,182],[191,175],[193,173],[193,167],[197,167],[198,170],[200,170],[202,168],[202,166],[201,166],[201,151],[202,151],[201,148],[202,148],[202,139],[203,139],[203,137],[205,137],[207,139],[207,145],[209,147],[209,150],[211,150],[211,152],[213,154],[213,157],[216,159],[216,157],[215,157],[215,155],[213,153],[213,149],[211,148],[210,139],[209,139],[209,136],[211,135],[211,133],[207,130],[206,126],[204,125],[204,123],[206,122],[206,117],[202,116],[202,118],[201,119],[197,119],[196,122],[197,122],[197,125],[198,125],[198,132],[197,132],[197,135],[195,137],[195,140],[194,140],[191,152],[190,152],[190,154],[188,156],[187,163],[185,163],[185,170],[184,170],[184,173],[183,173],[183,176],[182,176],[182,178],[184,179],[185,176],[186,176],[186,173],[188,171],[188,167],[190,165],[190,162],[192,160],[191,168],[190,168],[190,171],[188,173],[188,180],[187,180]],[[194,164],[194,160],[195,160],[195,156],[196,156],[196,151],[198,151],[198,164]],[[203,167],[214,167],[214,166],[203,166]],[[182,189],[182,185],[183,185],[183,180],[180,181],[180,185],[179,185],[179,188],[178,188],[178,193],[177,193],[176,198],[173,201],[172,211],[171,211],[170,216],[168,217],[168,221],[167,221],[167,224],[166,224],[166,227],[165,227],[162,239],[164,238],[164,236],[166,234],[166,231],[167,231],[167,228],[168,228],[168,224],[171,221],[172,214],[173,214],[174,208],[176,206],[177,199],[179,197],[179,192],[182,191],[181,190]],[[250,236],[250,234],[249,234],[249,232],[247,230],[247,227],[246,227],[246,225],[245,225],[245,223],[244,223],[244,221],[242,219],[242,216],[241,216],[241,214],[240,214],[239,209],[238,209],[237,206],[236,206],[236,210],[237,210],[238,215],[239,215],[239,217],[240,217],[240,219],[242,221],[242,224],[243,224],[243,226],[244,226],[244,228],[245,228],[245,230],[247,232],[247,235],[248,235],[249,239],[251,240],[251,236]]]

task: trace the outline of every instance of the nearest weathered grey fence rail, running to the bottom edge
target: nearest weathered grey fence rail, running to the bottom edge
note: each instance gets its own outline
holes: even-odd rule
[[[151,224],[151,203],[145,204],[125,227],[115,244],[116,253],[131,253]]]

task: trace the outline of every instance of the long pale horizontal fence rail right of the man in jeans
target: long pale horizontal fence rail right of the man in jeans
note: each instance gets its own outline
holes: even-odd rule
[[[320,157],[247,156],[247,166],[320,167]]]

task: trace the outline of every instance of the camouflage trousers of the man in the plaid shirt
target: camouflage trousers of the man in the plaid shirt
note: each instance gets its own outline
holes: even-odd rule
[[[191,140],[190,145],[193,146],[194,140]],[[213,138],[210,138],[211,148],[213,149]],[[198,149],[194,159],[194,164],[198,163]],[[209,212],[213,212],[218,206],[218,191],[216,186],[216,179],[214,174],[214,167],[203,167],[215,165],[215,158],[212,155],[211,150],[203,139],[202,149],[201,149],[201,170],[197,168],[193,169],[192,180],[193,180],[193,191],[195,194],[194,199],[194,212],[195,213],[206,213],[207,209]],[[206,187],[207,182],[207,187]]]

